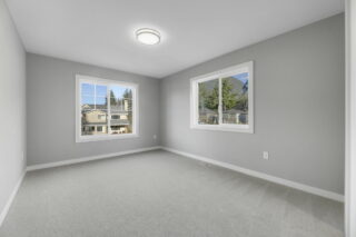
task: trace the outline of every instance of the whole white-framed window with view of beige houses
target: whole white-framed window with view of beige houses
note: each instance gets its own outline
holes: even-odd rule
[[[77,75],[77,142],[137,137],[136,83]]]

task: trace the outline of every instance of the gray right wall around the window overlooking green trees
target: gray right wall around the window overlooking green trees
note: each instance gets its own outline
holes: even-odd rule
[[[249,60],[255,134],[190,129],[189,79]],[[162,145],[343,194],[344,83],[338,14],[165,78]]]

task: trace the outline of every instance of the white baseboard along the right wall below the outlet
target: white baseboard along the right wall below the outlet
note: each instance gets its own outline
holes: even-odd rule
[[[275,176],[270,176],[270,175],[267,175],[267,174],[264,174],[264,172],[246,169],[246,168],[238,167],[238,166],[235,166],[235,165],[231,165],[231,164],[214,160],[214,159],[210,159],[210,158],[207,158],[207,157],[197,156],[197,155],[194,155],[194,154],[176,150],[176,149],[168,148],[168,147],[162,147],[162,149],[167,150],[167,151],[170,151],[170,152],[174,152],[174,154],[178,154],[178,155],[188,157],[188,158],[192,158],[192,159],[196,159],[196,160],[200,160],[200,161],[204,161],[204,162],[208,162],[208,164],[211,164],[211,165],[216,165],[216,166],[219,166],[219,167],[231,169],[231,170],[235,170],[235,171],[248,175],[248,176],[253,176],[253,177],[256,177],[256,178],[260,178],[260,179],[265,179],[265,180],[268,180],[268,181],[271,181],[271,182],[276,182],[278,185],[287,186],[287,187],[295,188],[295,189],[298,189],[298,190],[301,190],[301,191],[306,191],[306,192],[309,192],[309,194],[322,196],[322,197],[325,197],[325,198],[328,198],[328,199],[333,199],[333,200],[342,201],[342,203],[344,201],[344,196],[343,195],[339,195],[339,194],[336,194],[336,192],[333,192],[333,191],[327,191],[327,190],[324,190],[324,189],[320,189],[320,188],[303,185],[303,184],[299,184],[299,182],[295,182],[295,181],[290,181],[290,180],[287,180],[287,179],[283,179],[283,178],[278,178],[278,177],[275,177]]]

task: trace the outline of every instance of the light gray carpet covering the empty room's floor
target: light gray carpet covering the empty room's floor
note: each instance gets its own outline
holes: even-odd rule
[[[338,237],[343,205],[166,151],[28,172],[1,237]]]

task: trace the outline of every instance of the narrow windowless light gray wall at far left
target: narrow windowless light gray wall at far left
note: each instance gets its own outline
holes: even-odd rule
[[[26,165],[24,99],[26,53],[0,0],[0,214]]]

